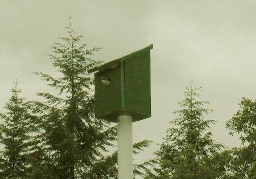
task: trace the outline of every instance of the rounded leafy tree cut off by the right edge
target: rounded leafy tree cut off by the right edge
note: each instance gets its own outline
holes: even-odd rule
[[[237,133],[240,148],[232,149],[231,171],[234,178],[256,178],[256,101],[243,98],[240,110],[227,121],[231,135]]]

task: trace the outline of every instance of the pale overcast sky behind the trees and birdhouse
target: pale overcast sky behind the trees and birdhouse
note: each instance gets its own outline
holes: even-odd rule
[[[229,148],[240,146],[225,128],[242,97],[256,98],[255,1],[0,1],[0,112],[17,79],[22,97],[51,89],[33,72],[56,72],[48,54],[65,36],[67,16],[88,48],[102,47],[92,58],[109,62],[153,44],[152,117],[133,123],[133,142],[154,143],[134,163],[153,158],[169,121],[177,116],[184,88],[193,80],[201,100],[214,111],[209,131]]]

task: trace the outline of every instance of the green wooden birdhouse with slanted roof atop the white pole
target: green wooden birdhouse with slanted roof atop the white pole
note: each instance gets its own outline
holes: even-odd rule
[[[117,122],[129,114],[133,122],[151,117],[150,50],[153,45],[95,66],[95,117]]]

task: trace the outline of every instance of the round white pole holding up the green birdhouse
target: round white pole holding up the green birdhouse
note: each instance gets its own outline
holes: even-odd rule
[[[118,178],[133,178],[132,117],[118,117]]]

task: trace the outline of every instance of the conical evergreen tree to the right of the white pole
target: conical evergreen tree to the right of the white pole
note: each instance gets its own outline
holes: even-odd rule
[[[149,161],[153,171],[147,170],[146,178],[200,179],[221,175],[216,171],[223,166],[209,165],[223,145],[211,138],[211,132],[206,132],[215,121],[203,117],[212,110],[204,108],[209,102],[196,100],[200,89],[194,88],[192,81],[185,88],[185,99],[178,103],[182,109],[175,111],[179,117],[170,122],[174,127],[167,128],[164,142],[155,152],[156,158]]]

